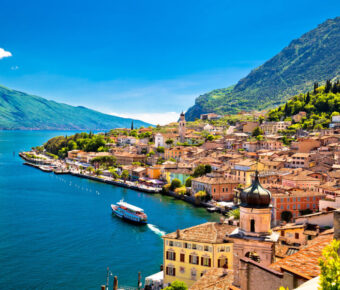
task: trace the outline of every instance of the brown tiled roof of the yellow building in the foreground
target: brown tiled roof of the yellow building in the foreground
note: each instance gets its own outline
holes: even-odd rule
[[[226,235],[231,234],[236,226],[208,222],[191,228],[180,230],[180,240],[198,243],[221,244],[224,242]],[[176,239],[177,233],[173,232],[163,236],[163,238]]]

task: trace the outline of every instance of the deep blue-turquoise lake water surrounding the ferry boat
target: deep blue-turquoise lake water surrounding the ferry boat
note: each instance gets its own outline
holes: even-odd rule
[[[138,271],[143,281],[159,271],[163,233],[218,220],[170,197],[22,165],[19,151],[65,134],[0,131],[0,289],[100,289],[107,267],[119,286],[134,287]],[[150,224],[112,216],[122,198]]]

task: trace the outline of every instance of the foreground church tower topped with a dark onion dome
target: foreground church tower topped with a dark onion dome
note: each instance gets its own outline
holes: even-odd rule
[[[237,287],[242,284],[240,260],[251,259],[269,266],[274,261],[275,242],[279,238],[270,230],[271,193],[261,186],[258,171],[253,183],[242,190],[240,200],[240,226],[229,235],[234,242],[234,285]]]

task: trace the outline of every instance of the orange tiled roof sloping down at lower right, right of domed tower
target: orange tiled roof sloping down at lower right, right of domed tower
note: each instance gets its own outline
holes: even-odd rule
[[[289,271],[297,273],[298,275],[316,277],[320,275],[318,261],[322,256],[322,250],[331,242],[332,238],[332,235],[328,235],[327,238],[319,241],[318,243],[308,246],[291,256],[275,262],[269,267],[276,271],[289,269]]]

